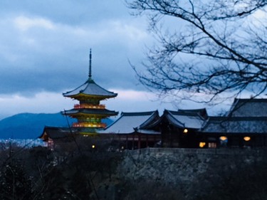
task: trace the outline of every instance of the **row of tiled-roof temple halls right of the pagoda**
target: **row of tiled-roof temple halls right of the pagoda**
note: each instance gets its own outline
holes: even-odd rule
[[[109,134],[127,149],[253,148],[267,146],[267,99],[235,99],[227,115],[206,109],[122,112],[100,134]]]

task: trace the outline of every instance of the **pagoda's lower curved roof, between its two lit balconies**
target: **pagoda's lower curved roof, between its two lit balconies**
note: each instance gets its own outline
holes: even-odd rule
[[[78,114],[90,114],[90,115],[107,115],[113,116],[117,115],[117,112],[107,109],[90,109],[90,108],[80,108],[72,110],[66,110],[65,112],[61,112],[63,115],[78,115]]]

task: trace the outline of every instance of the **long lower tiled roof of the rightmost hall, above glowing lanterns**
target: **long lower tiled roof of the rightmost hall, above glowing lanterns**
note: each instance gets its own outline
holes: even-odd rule
[[[209,117],[199,132],[267,133],[267,117]]]

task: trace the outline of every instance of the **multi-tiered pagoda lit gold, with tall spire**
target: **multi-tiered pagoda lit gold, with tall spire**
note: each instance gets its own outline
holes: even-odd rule
[[[73,109],[62,112],[63,115],[68,115],[78,120],[74,122],[72,127],[77,128],[85,134],[95,133],[96,130],[105,128],[103,119],[117,115],[117,112],[105,109],[105,105],[100,104],[101,100],[115,98],[117,93],[112,93],[100,87],[92,79],[92,53],[90,50],[89,56],[89,75],[83,85],[80,85],[75,90],[63,93],[66,98],[78,100],[79,104],[74,105]]]

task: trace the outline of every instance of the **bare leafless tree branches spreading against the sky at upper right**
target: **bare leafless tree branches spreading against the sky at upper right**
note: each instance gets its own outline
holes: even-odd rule
[[[146,70],[132,65],[147,88],[204,102],[266,93],[266,0],[125,1],[157,38]]]

